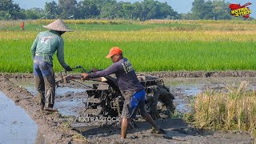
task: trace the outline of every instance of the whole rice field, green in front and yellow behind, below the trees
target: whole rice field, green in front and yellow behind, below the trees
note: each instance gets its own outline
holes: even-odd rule
[[[31,73],[30,47],[42,26],[54,20],[0,21],[0,72]],[[256,21],[65,20],[62,35],[71,67],[104,69],[105,56],[119,46],[138,72],[256,70]],[[54,58],[54,70],[62,70]]]

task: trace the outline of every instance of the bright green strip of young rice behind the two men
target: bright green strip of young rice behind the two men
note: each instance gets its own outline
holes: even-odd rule
[[[0,72],[32,72],[30,46],[33,39],[0,40]],[[135,70],[256,70],[255,44],[250,42],[111,42],[68,40],[65,59],[70,66],[104,69],[105,56],[120,46]],[[54,57],[54,70],[62,70]]]

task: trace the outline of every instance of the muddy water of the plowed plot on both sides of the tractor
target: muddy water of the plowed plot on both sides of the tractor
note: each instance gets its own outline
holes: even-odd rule
[[[249,82],[248,89],[254,90],[256,86],[256,78],[254,77],[232,77],[232,78],[163,78],[165,85],[170,88],[170,92],[174,94],[174,103],[176,110],[180,113],[188,113],[191,110],[191,99],[206,90],[223,91],[226,86],[239,86],[242,81]],[[90,83],[91,84],[91,83]],[[36,95],[34,89],[34,80],[26,79],[19,81],[18,86],[23,86],[30,93]],[[76,94],[85,92],[86,89],[70,87],[58,87],[56,89],[57,108],[63,115],[78,115],[79,109],[82,110],[86,101],[85,94],[75,96]],[[70,97],[69,97],[70,95]]]

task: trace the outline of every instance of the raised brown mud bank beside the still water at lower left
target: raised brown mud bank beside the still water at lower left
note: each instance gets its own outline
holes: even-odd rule
[[[21,106],[38,123],[38,138],[36,143],[69,143],[72,136],[78,134],[74,130],[62,128],[58,113],[44,113],[39,109],[36,97],[22,87],[15,86],[8,78],[0,77],[0,90],[11,98],[16,105]]]

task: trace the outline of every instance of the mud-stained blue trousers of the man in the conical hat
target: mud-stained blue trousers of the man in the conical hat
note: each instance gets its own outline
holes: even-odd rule
[[[35,88],[40,97],[40,105],[43,107],[54,107],[55,77],[53,66],[44,62],[42,58],[34,58],[34,81]]]

